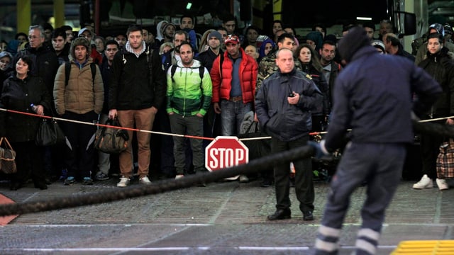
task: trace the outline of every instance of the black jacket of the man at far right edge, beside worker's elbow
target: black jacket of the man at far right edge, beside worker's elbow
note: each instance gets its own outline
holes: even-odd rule
[[[440,98],[433,104],[431,115],[436,117],[448,117],[454,114],[454,60],[448,48],[443,47],[436,54],[427,52],[425,60],[419,63],[419,67],[438,81],[443,89]]]

